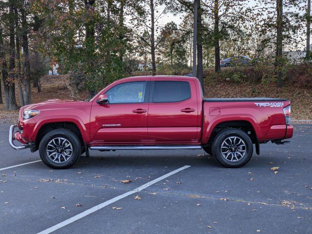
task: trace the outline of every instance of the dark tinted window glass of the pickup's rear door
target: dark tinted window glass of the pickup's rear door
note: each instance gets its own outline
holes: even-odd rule
[[[187,81],[154,81],[153,102],[180,102],[191,98]]]

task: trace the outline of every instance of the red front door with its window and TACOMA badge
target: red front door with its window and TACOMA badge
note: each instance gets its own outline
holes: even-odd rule
[[[108,103],[93,102],[91,110],[92,144],[124,145],[149,141],[147,133],[147,81],[117,84],[106,92]]]

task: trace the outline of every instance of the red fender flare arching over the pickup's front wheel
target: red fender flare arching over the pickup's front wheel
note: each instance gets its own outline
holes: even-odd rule
[[[35,141],[37,134],[39,133],[39,130],[41,129],[41,127],[45,124],[48,123],[57,123],[57,122],[70,122],[70,123],[74,123],[78,129],[79,132],[81,134],[81,137],[83,139],[84,142],[89,143],[90,142],[90,135],[84,125],[84,123],[82,122],[82,120],[77,117],[77,116],[71,116],[71,115],[65,115],[65,116],[49,116],[48,118],[44,117],[44,118],[40,118],[37,121],[37,124],[33,130],[33,133],[30,136],[30,140],[31,141]]]

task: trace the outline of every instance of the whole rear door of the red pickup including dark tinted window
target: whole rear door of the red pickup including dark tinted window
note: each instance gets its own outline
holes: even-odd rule
[[[152,78],[148,112],[151,143],[194,143],[198,128],[197,94],[194,81]]]

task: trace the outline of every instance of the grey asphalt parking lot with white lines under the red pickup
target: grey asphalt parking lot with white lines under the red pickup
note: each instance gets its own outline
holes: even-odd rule
[[[294,126],[291,143],[263,144],[238,169],[160,150],[90,151],[52,170],[11,149],[0,124],[0,233],[312,233],[312,125]]]

